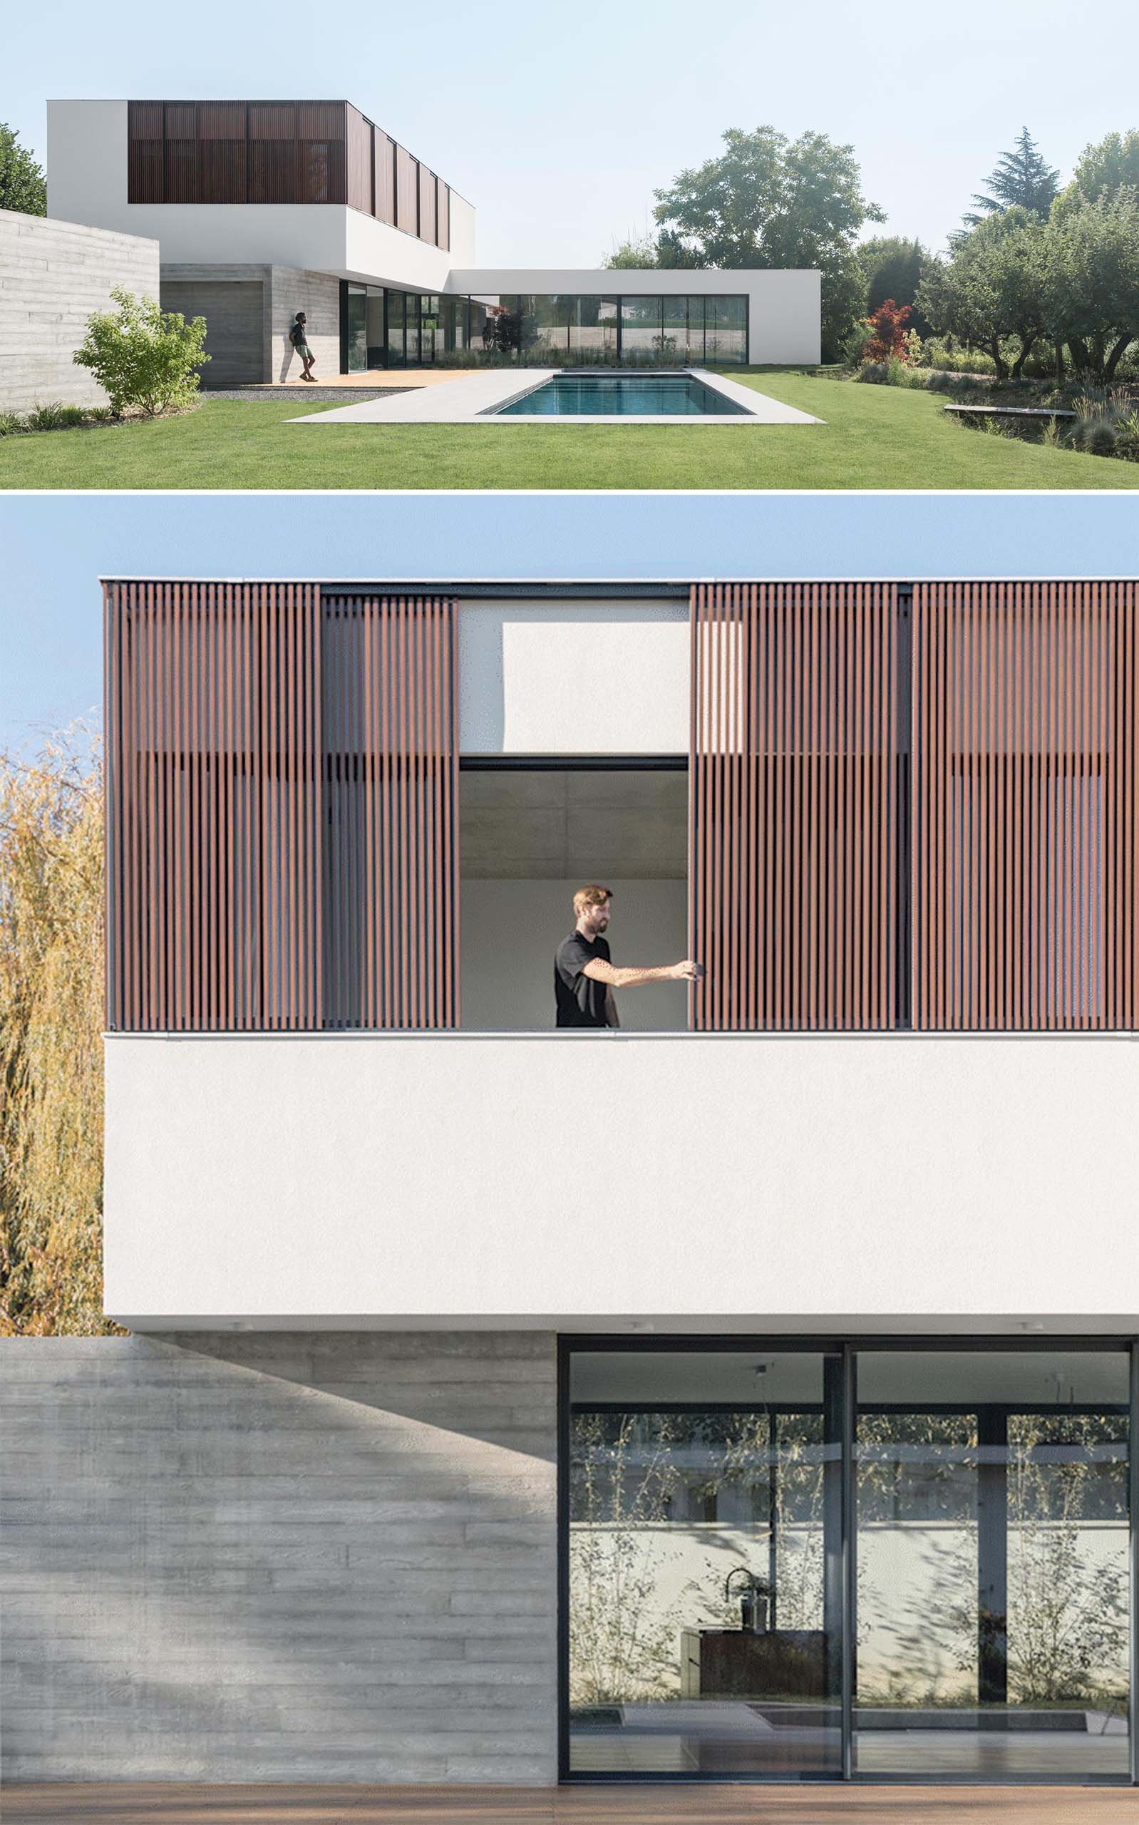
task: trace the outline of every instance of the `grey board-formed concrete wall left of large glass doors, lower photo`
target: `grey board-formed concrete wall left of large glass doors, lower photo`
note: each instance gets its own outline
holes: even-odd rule
[[[5,1779],[557,1778],[549,1334],[0,1341]]]

